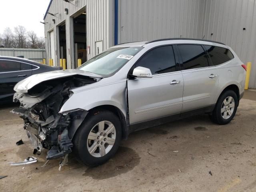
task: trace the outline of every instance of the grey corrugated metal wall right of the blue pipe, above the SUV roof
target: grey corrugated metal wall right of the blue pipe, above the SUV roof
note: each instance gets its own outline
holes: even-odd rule
[[[223,42],[242,62],[252,62],[249,87],[256,88],[255,2],[119,0],[118,43],[180,37]]]

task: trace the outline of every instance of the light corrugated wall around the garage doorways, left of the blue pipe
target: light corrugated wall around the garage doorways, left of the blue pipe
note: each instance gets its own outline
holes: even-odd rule
[[[65,14],[64,9],[68,8],[68,14]],[[67,67],[74,68],[74,43],[73,43],[73,17],[76,13],[86,9],[86,33],[87,46],[90,46],[90,54],[87,58],[95,56],[95,42],[103,41],[103,49],[113,45],[113,19],[114,13],[113,0],[76,0],[71,3],[63,0],[52,0],[48,12],[56,14],[52,16],[47,14],[44,22],[44,32],[46,35],[46,50],[47,58],[50,53],[50,37],[49,32],[54,30],[54,48],[55,48],[55,63],[59,65],[59,47],[58,47],[58,25],[66,23],[66,47],[67,47]],[[80,12],[82,13],[82,12]],[[55,19],[55,24],[52,19]],[[71,46],[72,44],[72,46]]]

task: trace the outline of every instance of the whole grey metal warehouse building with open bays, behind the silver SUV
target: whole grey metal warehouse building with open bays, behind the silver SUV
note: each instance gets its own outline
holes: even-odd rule
[[[256,0],[51,0],[44,16],[46,56],[67,68],[120,43],[159,38],[223,42],[252,62],[256,88]]]

